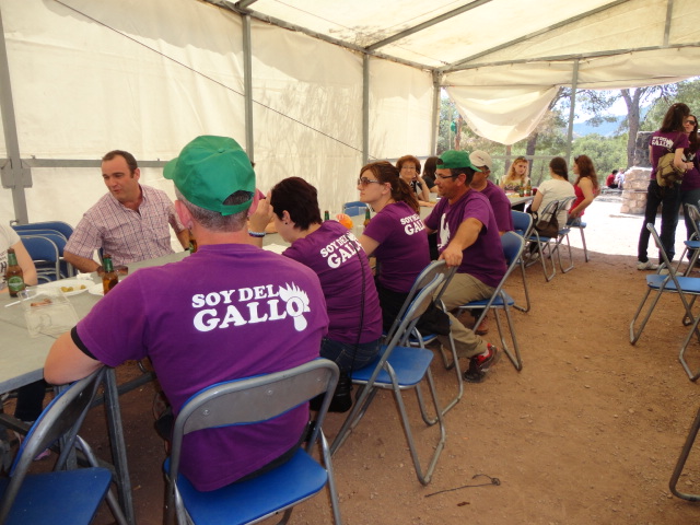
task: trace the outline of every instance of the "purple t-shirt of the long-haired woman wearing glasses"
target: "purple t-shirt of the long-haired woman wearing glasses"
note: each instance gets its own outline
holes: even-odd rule
[[[406,202],[393,202],[372,218],[364,234],[380,243],[380,284],[408,293],[418,275],[430,264],[425,225]]]

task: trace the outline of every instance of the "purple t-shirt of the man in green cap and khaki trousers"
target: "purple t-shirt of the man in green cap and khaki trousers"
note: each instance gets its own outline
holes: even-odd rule
[[[440,199],[425,218],[425,225],[438,231],[438,249],[442,253],[459,225],[467,219],[477,219],[483,224],[476,242],[464,250],[459,273],[469,273],[489,287],[498,287],[505,275],[505,257],[493,210],[482,194],[469,190],[455,203]]]

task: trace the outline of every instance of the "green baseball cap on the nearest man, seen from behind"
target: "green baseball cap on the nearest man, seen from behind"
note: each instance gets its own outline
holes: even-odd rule
[[[201,136],[189,142],[177,159],[165,164],[163,176],[192,205],[232,215],[247,210],[255,195],[255,172],[241,144],[229,137]],[[231,194],[247,191],[250,199],[224,205]]]

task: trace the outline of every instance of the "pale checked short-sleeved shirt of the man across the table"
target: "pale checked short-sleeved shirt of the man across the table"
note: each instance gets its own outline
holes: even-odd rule
[[[115,266],[172,254],[170,224],[179,233],[185,226],[165,191],[140,186],[139,210],[130,210],[112,194],[90,208],[75,226],[65,252],[92,259],[97,248],[112,255]]]

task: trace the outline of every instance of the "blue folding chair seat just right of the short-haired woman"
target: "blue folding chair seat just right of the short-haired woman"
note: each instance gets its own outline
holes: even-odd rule
[[[386,350],[386,346],[382,346],[382,352],[384,350]],[[382,352],[380,352],[380,355]],[[425,376],[425,371],[430,366],[433,355],[433,352],[424,348],[396,347],[387,362],[392,365],[394,372],[396,372],[399,386],[415,386]],[[381,357],[377,357],[366,366],[353,371],[352,381],[354,383],[366,383],[370,381],[372,372],[374,372],[380,359]],[[375,384],[377,386],[392,384],[392,378],[386,370],[380,372],[376,376]]]

